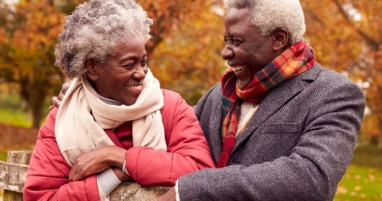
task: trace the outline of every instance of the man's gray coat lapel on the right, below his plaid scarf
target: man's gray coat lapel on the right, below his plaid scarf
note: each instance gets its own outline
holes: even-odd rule
[[[261,124],[263,124],[281,107],[301,92],[305,88],[305,84],[308,83],[306,81],[315,80],[319,70],[319,65],[315,64],[310,70],[286,80],[274,90],[270,91],[261,102],[253,118],[250,120],[247,127],[245,127],[243,133],[237,136],[232,153],[234,153],[241,143],[251,136]]]

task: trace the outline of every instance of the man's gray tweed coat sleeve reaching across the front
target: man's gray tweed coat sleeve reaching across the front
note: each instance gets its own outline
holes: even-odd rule
[[[357,141],[365,99],[354,84],[322,96],[289,156],[180,177],[180,200],[332,200]]]

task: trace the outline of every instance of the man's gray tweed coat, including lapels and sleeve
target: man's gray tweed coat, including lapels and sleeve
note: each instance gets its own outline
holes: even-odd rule
[[[215,163],[222,150],[221,85],[195,106]],[[331,200],[351,160],[365,99],[315,64],[272,90],[236,138],[227,167],[179,178],[183,200]]]

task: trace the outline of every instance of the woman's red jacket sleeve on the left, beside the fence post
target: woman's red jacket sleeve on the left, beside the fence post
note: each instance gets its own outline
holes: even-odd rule
[[[26,173],[24,200],[100,200],[96,176],[69,182],[69,165],[61,155],[54,136],[52,109],[40,128],[36,146]]]

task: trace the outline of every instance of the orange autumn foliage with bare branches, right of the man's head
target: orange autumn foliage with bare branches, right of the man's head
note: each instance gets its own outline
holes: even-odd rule
[[[363,88],[370,113],[361,133],[382,146],[382,1],[301,2],[318,62]]]

